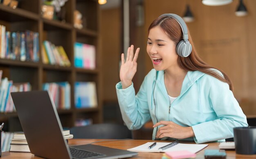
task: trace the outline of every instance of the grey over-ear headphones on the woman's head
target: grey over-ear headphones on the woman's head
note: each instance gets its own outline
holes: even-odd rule
[[[159,17],[172,17],[174,18],[181,26],[182,32],[183,32],[183,40],[181,40],[176,47],[176,52],[178,55],[181,57],[188,57],[192,51],[192,45],[189,43],[189,35],[188,35],[188,30],[186,28],[186,23],[180,17],[179,15],[176,14],[163,14],[160,15]]]

